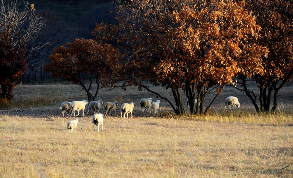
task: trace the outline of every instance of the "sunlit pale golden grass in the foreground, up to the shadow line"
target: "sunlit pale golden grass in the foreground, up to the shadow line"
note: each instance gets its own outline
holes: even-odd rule
[[[257,177],[293,174],[293,127],[141,117],[0,116],[1,177]],[[292,118],[291,118],[292,120]],[[289,166],[289,167],[287,167]],[[282,168],[287,167],[283,170]]]

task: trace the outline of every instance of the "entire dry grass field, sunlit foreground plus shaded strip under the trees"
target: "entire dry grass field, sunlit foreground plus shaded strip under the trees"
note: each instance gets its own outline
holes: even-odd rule
[[[158,115],[142,113],[136,89],[101,89],[97,99],[137,103],[133,118],[105,117],[93,132],[93,112],[70,118],[62,101],[86,99],[73,85],[17,86],[0,110],[1,178],[290,178],[293,175],[292,86],[280,92],[278,111],[257,114],[244,94],[225,89],[206,116],[175,116],[162,101]],[[164,91],[169,96],[170,91]],[[241,107],[224,110],[237,95]],[[208,100],[208,98],[207,98]],[[85,110],[87,112],[87,109]],[[100,110],[104,113],[104,109]]]

